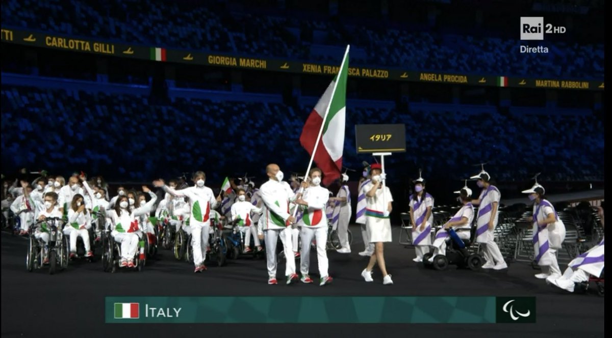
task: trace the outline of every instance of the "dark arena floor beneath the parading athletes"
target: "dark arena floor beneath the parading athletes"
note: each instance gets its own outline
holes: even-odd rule
[[[334,282],[267,285],[265,260],[230,260],[209,266],[201,274],[193,265],[178,262],[162,250],[145,270],[104,273],[102,263],[70,263],[53,276],[47,270],[26,271],[25,238],[2,232],[2,337],[379,337],[427,334],[429,337],[603,337],[604,298],[594,292],[569,294],[533,276],[528,263],[512,263],[505,271],[447,271],[425,269],[412,262],[414,249],[394,242],[386,246],[386,261],[394,285],[383,285],[379,271],[365,283],[360,272],[366,259],[357,255],[363,244],[359,228],[352,254],[329,253]],[[316,255],[311,252],[311,271]],[[562,269],[565,266],[561,266]],[[284,264],[279,266],[280,274]],[[317,279],[315,279],[317,280]],[[413,324],[413,325],[210,325],[210,324],[105,324],[105,296],[535,296],[534,324]],[[401,308],[397,311],[401,312]]]

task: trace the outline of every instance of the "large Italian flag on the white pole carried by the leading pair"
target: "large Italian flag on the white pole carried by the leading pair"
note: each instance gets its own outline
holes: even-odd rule
[[[340,177],[342,151],[344,149],[346,115],[346,78],[348,77],[348,51],[340,64],[340,71],[329,84],[323,96],[310,113],[300,135],[300,144],[310,156],[315,152],[316,165],[323,171],[323,185],[329,185]],[[323,143],[323,144],[321,144]]]

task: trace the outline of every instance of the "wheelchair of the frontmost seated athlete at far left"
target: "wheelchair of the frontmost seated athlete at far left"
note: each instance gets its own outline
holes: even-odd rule
[[[68,267],[68,238],[64,237],[62,229],[66,222],[62,218],[47,218],[36,221],[29,227],[28,254],[26,255],[26,268],[29,272],[43,267],[43,250],[47,246],[49,259],[49,274]],[[41,226],[49,233],[49,243],[35,237],[35,229]]]

